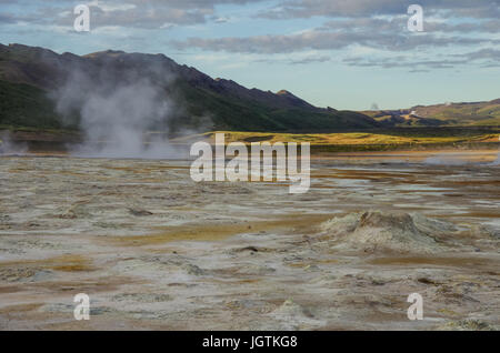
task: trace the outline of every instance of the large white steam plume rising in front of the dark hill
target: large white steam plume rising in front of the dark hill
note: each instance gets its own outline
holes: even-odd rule
[[[84,142],[70,148],[77,157],[169,159],[178,151],[166,138],[168,121],[179,108],[169,99],[172,74],[159,65],[147,69],[104,64],[96,73],[72,70],[53,97],[67,119],[79,117]],[[90,70],[89,70],[90,71]],[[148,132],[164,132],[151,138]]]

